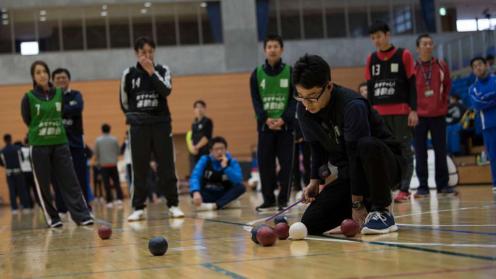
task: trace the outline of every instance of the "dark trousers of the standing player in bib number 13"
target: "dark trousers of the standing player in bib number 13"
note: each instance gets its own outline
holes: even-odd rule
[[[412,127],[408,127],[408,115],[382,115],[382,120],[396,139],[401,141],[403,146],[407,147],[405,156],[408,161],[408,168],[406,170],[405,179],[403,179],[399,188],[403,192],[408,192],[413,175],[413,152],[411,148],[413,129]]]

